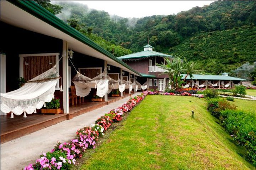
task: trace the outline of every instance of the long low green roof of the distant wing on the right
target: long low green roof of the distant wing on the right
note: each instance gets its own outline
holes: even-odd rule
[[[184,79],[186,74],[181,74],[183,77],[181,79]],[[230,76],[224,76],[224,75],[200,75],[200,74],[193,74],[193,80],[241,80],[245,81],[245,79],[240,79],[236,77],[230,77]],[[191,80],[189,75],[186,78],[186,80]]]

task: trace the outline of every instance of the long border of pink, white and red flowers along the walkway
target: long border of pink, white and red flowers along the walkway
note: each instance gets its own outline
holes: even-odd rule
[[[122,106],[98,118],[95,124],[77,130],[76,138],[70,142],[58,143],[54,149],[40,155],[35,164],[26,166],[24,170],[69,169],[71,164],[75,164],[77,158],[82,157],[86,149],[95,148],[98,138],[104,135],[103,132],[107,131],[112,123],[121,121],[123,114],[131,111],[148,94],[149,91],[144,91],[141,95],[130,98]]]

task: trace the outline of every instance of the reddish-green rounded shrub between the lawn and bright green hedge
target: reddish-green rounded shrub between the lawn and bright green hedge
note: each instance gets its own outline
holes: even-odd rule
[[[213,98],[207,101],[207,109],[217,118],[220,116],[221,111],[226,109],[235,110],[237,106],[229,103],[224,98]]]

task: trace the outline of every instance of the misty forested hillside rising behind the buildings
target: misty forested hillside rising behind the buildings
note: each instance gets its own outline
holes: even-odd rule
[[[256,74],[256,1],[215,1],[176,15],[143,18],[112,16],[75,2],[54,3],[60,8],[57,17],[116,57],[142,51],[149,40],[154,51],[198,62],[205,74],[236,76],[242,66],[250,66],[247,79]]]

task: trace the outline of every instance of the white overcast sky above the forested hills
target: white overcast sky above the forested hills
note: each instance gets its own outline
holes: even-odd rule
[[[194,6],[210,5],[214,1],[76,1],[89,8],[104,10],[110,15],[141,18],[152,15],[171,15]]]

